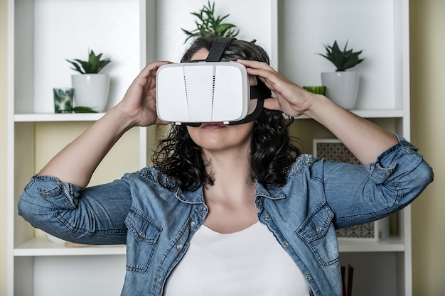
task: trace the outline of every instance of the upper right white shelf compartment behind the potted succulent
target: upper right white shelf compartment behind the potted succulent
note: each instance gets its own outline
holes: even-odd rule
[[[403,51],[407,30],[402,1],[283,0],[278,6],[279,72],[301,86],[320,85],[321,72],[335,66],[318,53],[337,40],[341,48],[363,50],[356,106],[406,109],[409,71]],[[360,11],[360,13],[351,13]],[[340,21],[341,20],[341,21]],[[378,21],[377,21],[378,20]]]

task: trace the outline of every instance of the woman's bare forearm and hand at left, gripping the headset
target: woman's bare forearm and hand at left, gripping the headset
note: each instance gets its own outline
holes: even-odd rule
[[[122,101],[55,155],[38,175],[54,176],[85,187],[97,165],[126,131],[133,126],[166,124],[156,114],[156,72],[168,63],[146,65]]]

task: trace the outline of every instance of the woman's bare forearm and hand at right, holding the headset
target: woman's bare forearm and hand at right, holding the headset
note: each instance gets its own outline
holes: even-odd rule
[[[265,62],[238,60],[247,73],[259,77],[277,98],[264,107],[289,116],[305,114],[328,128],[361,163],[373,163],[380,153],[397,143],[392,133],[343,109],[321,94],[313,94],[287,80]]]

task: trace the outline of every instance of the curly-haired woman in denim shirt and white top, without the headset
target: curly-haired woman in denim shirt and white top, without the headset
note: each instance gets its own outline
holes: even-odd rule
[[[205,59],[214,40],[195,40],[183,61]],[[167,124],[155,77],[168,62],[154,62],[31,179],[19,214],[68,241],[127,243],[122,295],[341,295],[335,229],[402,209],[432,170],[403,138],[286,80],[254,43],[234,40],[223,58],[276,94],[256,120],[173,126],[154,167],[86,187],[129,128]],[[302,114],[366,165],[300,155],[287,128]]]

